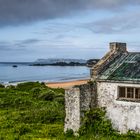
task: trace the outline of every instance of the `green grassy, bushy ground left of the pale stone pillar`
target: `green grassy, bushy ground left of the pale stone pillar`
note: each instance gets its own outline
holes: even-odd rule
[[[0,140],[63,135],[64,90],[38,82],[0,86]]]

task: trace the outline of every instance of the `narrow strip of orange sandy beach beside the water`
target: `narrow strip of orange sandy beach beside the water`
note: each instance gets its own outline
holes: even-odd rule
[[[51,88],[70,88],[73,87],[74,85],[82,85],[87,83],[89,79],[83,79],[83,80],[75,80],[75,81],[68,81],[68,82],[48,82],[46,83],[46,86],[51,87]]]

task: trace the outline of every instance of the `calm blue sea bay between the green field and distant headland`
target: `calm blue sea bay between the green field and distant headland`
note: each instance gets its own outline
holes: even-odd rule
[[[86,66],[29,66],[18,64],[0,64],[0,83],[13,84],[20,82],[62,82],[87,79],[90,70]]]

